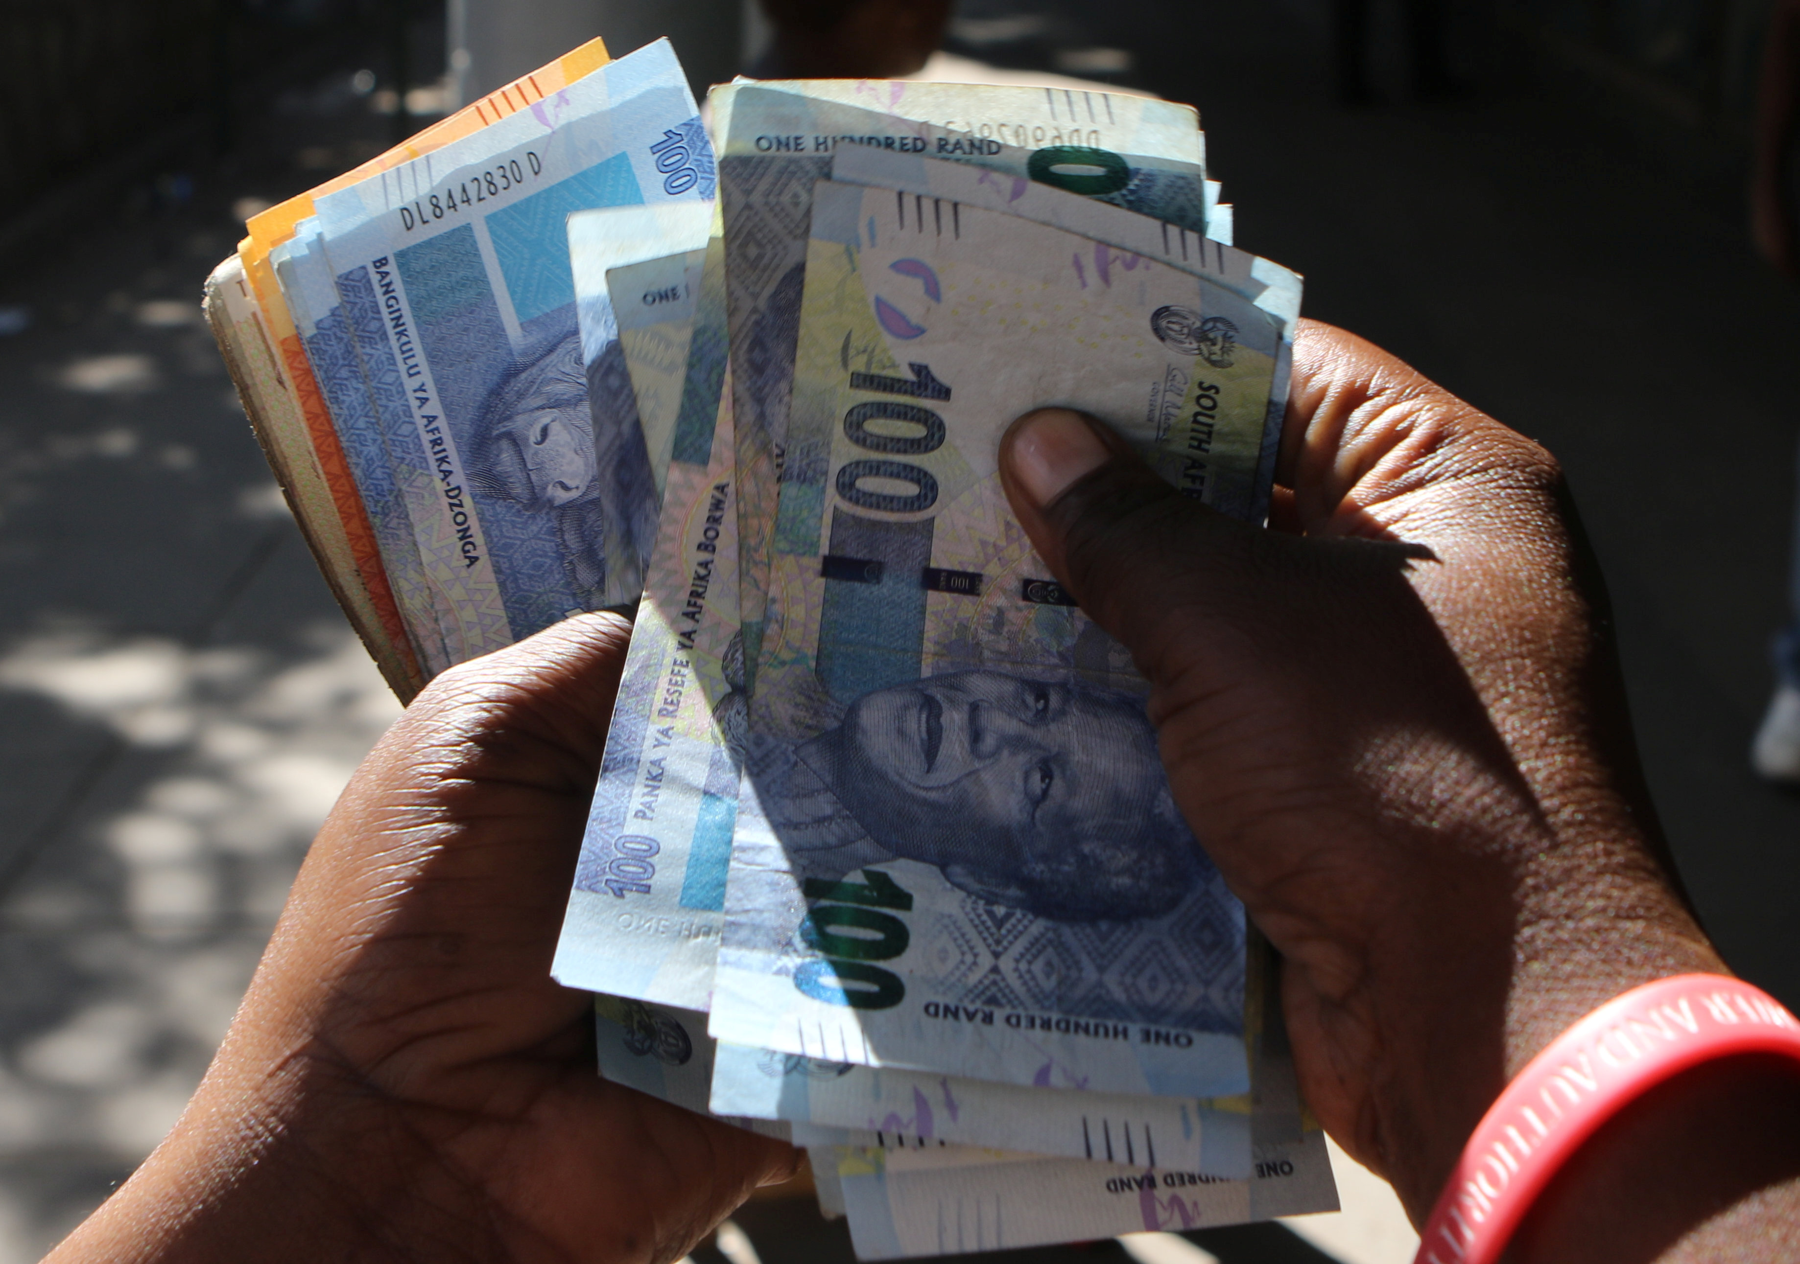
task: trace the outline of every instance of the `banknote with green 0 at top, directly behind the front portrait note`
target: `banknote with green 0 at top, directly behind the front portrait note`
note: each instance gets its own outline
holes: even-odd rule
[[[736,370],[738,550],[747,656],[760,662],[769,532],[785,460],[812,182],[844,146],[954,158],[1206,228],[1190,106],[1039,88],[796,81],[711,93]]]

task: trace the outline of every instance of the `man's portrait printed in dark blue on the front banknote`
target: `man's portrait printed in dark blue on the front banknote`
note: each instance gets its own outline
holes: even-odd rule
[[[1130,694],[977,669],[848,705],[821,685],[810,703],[787,714],[817,732],[752,732],[747,752],[803,877],[914,859],[992,904],[1125,922],[1170,912],[1208,868]]]

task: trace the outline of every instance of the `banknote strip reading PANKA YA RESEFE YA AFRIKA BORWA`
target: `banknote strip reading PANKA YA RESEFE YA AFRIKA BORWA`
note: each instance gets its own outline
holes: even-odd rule
[[[659,534],[551,973],[707,1009],[742,748],[724,246],[702,268]]]

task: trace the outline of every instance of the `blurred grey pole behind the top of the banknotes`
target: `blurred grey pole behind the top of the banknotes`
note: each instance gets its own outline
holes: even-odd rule
[[[754,0],[749,0],[754,4]],[[695,95],[738,72],[745,0],[448,0],[450,110],[603,36],[614,58],[668,36]]]

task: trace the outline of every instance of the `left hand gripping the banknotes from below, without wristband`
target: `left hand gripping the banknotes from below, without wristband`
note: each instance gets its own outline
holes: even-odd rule
[[[679,1259],[796,1153],[599,1079],[551,955],[628,624],[441,674],[306,858],[205,1082],[52,1255]]]

